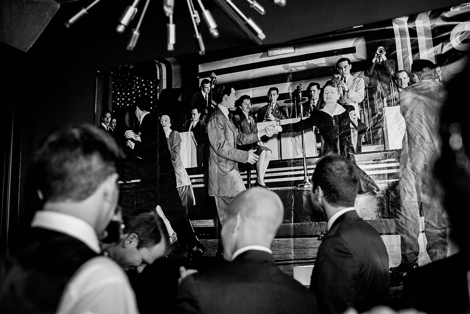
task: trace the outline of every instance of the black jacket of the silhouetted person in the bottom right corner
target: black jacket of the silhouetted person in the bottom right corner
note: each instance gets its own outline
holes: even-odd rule
[[[470,313],[469,270],[469,257],[462,251],[410,270],[403,285],[405,306],[428,314]]]

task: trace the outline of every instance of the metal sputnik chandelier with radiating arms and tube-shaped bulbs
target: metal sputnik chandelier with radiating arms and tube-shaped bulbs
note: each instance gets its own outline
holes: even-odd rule
[[[88,11],[94,7],[98,2],[101,0],[94,0],[88,7],[82,7],[75,15],[73,15],[69,20],[65,22],[65,27],[70,28],[73,24],[75,24],[79,19],[88,15]],[[196,0],[197,4],[199,5],[200,12],[203,16],[204,22],[209,28],[209,32],[213,38],[219,37],[219,31],[217,29],[217,23],[215,22],[211,11],[204,7],[202,0]],[[251,19],[251,17],[247,17],[243,14],[243,12],[232,2],[232,0],[213,0],[219,8],[232,20],[232,22],[248,37],[253,41],[255,44],[260,45],[261,40],[266,38],[263,30]],[[256,10],[259,14],[265,15],[266,10],[261,6],[258,1],[256,0],[246,0],[250,8]],[[286,0],[270,0],[275,4],[283,7],[286,5]],[[135,28],[131,31],[131,37],[129,42],[127,43],[127,50],[132,51],[134,47],[137,45],[137,41],[139,40],[140,36],[140,28],[142,24],[142,20],[145,16],[145,12],[149,7],[150,0],[146,0],[144,7],[142,8],[141,15],[139,17],[139,21]],[[204,40],[201,33],[198,31],[198,26],[201,23],[201,17],[199,12],[196,10],[193,0],[186,0],[188,4],[189,14],[191,16],[191,21],[194,27],[194,37],[196,39],[196,44],[199,47],[199,55],[205,54],[205,46]],[[133,0],[131,5],[128,5],[125,8],[123,14],[119,18],[118,26],[116,27],[116,31],[118,33],[124,33],[126,28],[131,24],[133,18],[138,13],[138,6],[140,0]],[[179,1],[182,3],[182,1]],[[165,15],[168,17],[168,23],[166,24],[166,31],[167,31],[167,50],[173,51],[174,45],[176,44],[176,26],[173,24],[173,12],[174,12],[174,4],[175,0],[163,0],[163,10]]]

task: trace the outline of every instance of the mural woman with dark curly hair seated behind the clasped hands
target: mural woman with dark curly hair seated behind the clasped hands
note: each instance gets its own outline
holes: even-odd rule
[[[257,132],[258,127],[256,126],[256,122],[254,118],[250,114],[251,109],[251,100],[250,96],[243,95],[238,99],[239,108],[237,110],[237,114],[233,116],[232,121],[236,128],[240,130],[242,133],[252,133]],[[255,186],[264,187],[266,188],[266,184],[264,182],[264,175],[266,173],[267,166],[269,165],[269,159],[271,157],[271,149],[267,147],[261,146],[258,143],[248,144],[239,146],[239,149],[243,150],[250,150],[256,149],[255,154],[259,156],[258,161],[256,162],[256,183]],[[247,164],[247,166],[251,166]],[[239,165],[238,167],[241,171],[247,169],[244,165]]]

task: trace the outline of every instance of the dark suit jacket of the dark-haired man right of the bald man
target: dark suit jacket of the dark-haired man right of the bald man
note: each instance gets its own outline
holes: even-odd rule
[[[376,229],[356,211],[338,217],[320,244],[310,290],[319,313],[340,314],[348,307],[358,313],[387,304],[389,259]]]

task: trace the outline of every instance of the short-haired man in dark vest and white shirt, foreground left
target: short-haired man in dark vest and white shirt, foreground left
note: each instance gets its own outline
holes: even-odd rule
[[[118,204],[120,157],[93,126],[47,137],[34,165],[43,208],[21,248],[0,263],[4,313],[138,313],[125,273],[100,256],[98,242]]]

